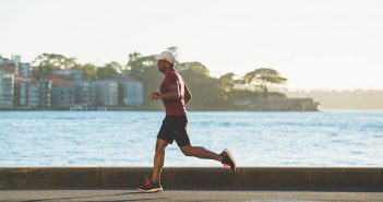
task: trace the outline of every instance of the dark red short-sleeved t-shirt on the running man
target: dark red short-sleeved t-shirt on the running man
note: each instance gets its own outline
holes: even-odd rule
[[[177,85],[180,97],[176,99],[163,99],[166,115],[181,116],[187,114],[184,106],[184,82],[182,76],[175,69],[169,70],[160,84],[160,94],[168,93],[170,85]]]

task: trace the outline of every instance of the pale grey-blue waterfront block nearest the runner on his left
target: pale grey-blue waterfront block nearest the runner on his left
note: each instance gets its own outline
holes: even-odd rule
[[[121,82],[121,100],[125,106],[141,106],[144,102],[144,85],[141,82]]]

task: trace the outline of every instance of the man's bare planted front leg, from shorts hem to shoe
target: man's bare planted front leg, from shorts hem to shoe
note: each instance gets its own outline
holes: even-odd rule
[[[152,180],[154,181],[160,180],[160,171],[164,167],[165,148],[167,145],[168,145],[168,142],[161,139],[157,139],[156,151],[154,155],[153,177],[152,177]]]

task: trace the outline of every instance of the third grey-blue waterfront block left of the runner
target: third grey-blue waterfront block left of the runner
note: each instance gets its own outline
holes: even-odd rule
[[[93,81],[79,81],[74,84],[76,105],[95,106],[96,86]]]

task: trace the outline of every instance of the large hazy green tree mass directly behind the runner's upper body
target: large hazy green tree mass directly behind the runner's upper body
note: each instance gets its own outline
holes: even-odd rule
[[[164,75],[158,71],[154,56],[129,55],[127,63],[130,75],[144,84],[146,106],[160,106],[158,102],[149,102],[151,92],[158,90]],[[192,108],[218,108],[228,105],[228,97],[222,88],[219,80],[210,76],[208,69],[201,62],[177,63],[176,69],[188,83],[193,94]]]

